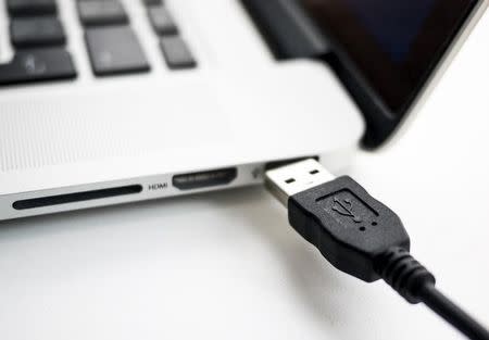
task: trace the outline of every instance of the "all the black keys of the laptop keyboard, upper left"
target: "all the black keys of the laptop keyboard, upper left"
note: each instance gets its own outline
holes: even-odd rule
[[[0,86],[73,79],[76,65],[66,48],[70,33],[58,15],[57,1],[5,0],[10,20],[11,62],[0,65]],[[148,73],[151,65],[130,25],[121,0],[70,0],[76,2],[84,29],[86,53],[96,77]],[[197,66],[190,48],[163,0],[139,1],[148,25],[160,41],[162,59],[170,70]]]

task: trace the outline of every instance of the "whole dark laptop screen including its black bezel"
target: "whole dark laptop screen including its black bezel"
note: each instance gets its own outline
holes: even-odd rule
[[[340,56],[401,114],[477,0],[300,0]]]

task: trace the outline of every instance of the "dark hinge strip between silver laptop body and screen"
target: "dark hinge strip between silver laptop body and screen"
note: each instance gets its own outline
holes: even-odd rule
[[[241,3],[277,60],[315,59],[335,72],[365,118],[364,148],[375,149],[391,135],[396,122],[386,118],[386,110],[362,85],[359,74],[338,58],[298,0],[241,0]]]

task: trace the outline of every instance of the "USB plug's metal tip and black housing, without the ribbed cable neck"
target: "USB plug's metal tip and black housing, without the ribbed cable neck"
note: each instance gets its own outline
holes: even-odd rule
[[[393,247],[410,249],[401,219],[348,176],[336,178],[308,160],[266,174],[286,204],[290,225],[338,269],[364,281],[380,278],[376,260]]]

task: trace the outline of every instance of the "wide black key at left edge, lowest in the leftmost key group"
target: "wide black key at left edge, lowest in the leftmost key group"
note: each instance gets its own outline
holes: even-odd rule
[[[76,77],[70,53],[62,48],[23,50],[0,65],[0,86]]]

